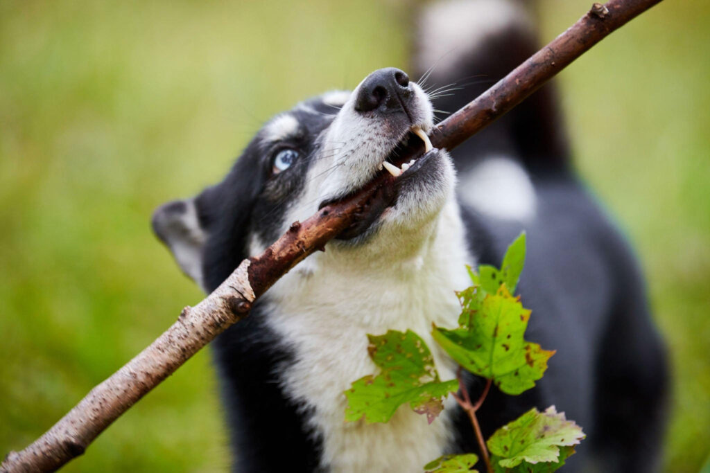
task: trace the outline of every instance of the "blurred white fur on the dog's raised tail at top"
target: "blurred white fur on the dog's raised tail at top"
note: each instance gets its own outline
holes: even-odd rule
[[[486,36],[506,28],[532,29],[525,9],[510,0],[450,0],[424,9],[417,67],[433,77],[451,77],[461,57],[471,57]]]

